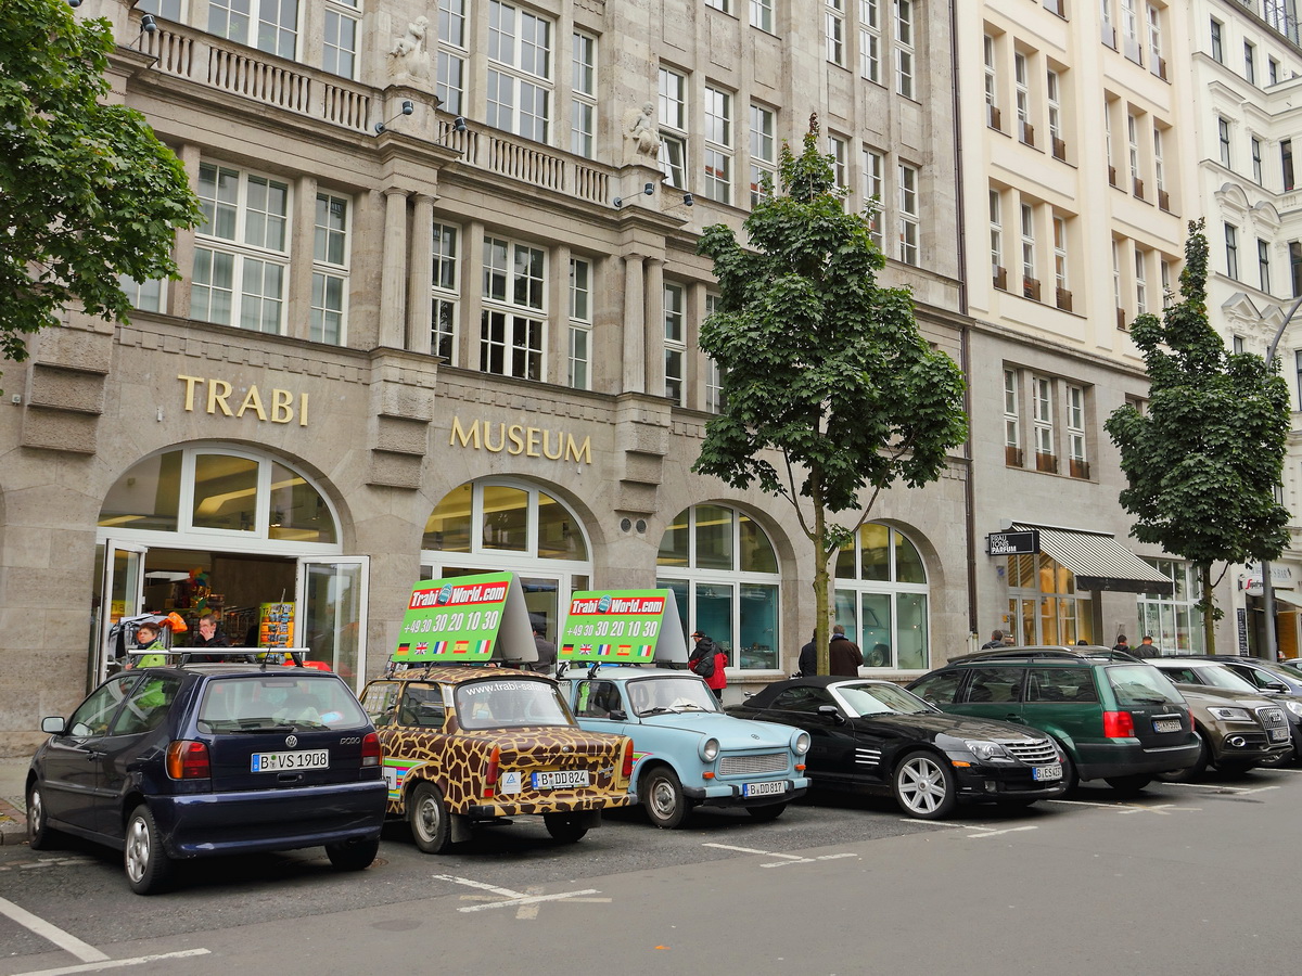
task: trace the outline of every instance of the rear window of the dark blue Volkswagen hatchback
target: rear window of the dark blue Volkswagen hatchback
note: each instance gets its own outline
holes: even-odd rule
[[[294,725],[353,729],[366,725],[361,704],[339,678],[258,674],[216,678],[199,704],[201,731],[223,733]]]

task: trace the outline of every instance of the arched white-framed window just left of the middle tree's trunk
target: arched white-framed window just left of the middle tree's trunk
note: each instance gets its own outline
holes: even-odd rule
[[[733,668],[779,668],[777,554],[764,530],[725,505],[693,505],[660,540],[658,587],[673,591],[690,634],[708,634]]]

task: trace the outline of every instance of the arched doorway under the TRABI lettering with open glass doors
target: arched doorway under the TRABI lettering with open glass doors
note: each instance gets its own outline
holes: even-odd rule
[[[280,458],[225,444],[150,454],[104,498],[96,548],[92,679],[109,665],[115,622],[168,610],[189,634],[212,613],[237,647],[288,639],[350,679],[365,674],[367,558],[342,554],[335,506]]]

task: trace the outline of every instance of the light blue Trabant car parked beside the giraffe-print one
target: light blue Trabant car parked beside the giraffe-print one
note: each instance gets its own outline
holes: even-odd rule
[[[724,714],[691,671],[581,666],[561,685],[579,726],[633,739],[629,790],[656,826],[680,826],[695,806],[773,820],[809,789],[809,733]]]

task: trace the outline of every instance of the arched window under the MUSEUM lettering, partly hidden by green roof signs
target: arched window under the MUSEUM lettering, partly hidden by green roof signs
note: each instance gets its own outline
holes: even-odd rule
[[[430,513],[421,573],[443,579],[510,570],[534,622],[556,640],[560,608],[589,588],[590,552],[582,522],[564,502],[536,485],[486,479],[453,488]]]

